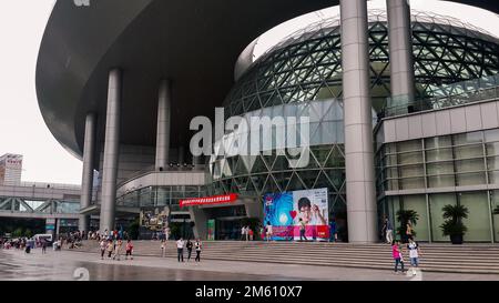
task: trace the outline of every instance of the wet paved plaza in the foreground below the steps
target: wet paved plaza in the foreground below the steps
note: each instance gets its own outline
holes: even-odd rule
[[[100,255],[72,251],[41,254],[34,250],[0,251],[0,280],[19,281],[499,281],[499,275],[421,272],[416,276],[391,270],[364,270],[204,260],[179,263],[172,257],[139,256],[101,260]]]

